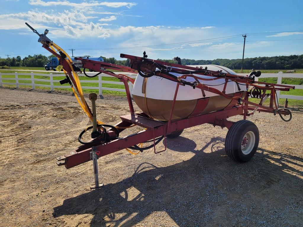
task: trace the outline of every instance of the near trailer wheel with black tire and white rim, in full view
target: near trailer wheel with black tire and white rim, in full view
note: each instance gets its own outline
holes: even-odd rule
[[[235,122],[227,132],[225,151],[236,162],[247,162],[256,153],[259,145],[258,127],[249,120]]]

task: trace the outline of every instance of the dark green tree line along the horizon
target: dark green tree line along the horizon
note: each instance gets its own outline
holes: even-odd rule
[[[87,57],[89,55],[85,55]],[[54,55],[48,57],[42,54],[28,55],[21,59],[20,56],[16,58],[0,58],[0,67],[4,66],[26,66],[26,67],[44,67],[45,64]],[[89,56],[90,57],[90,56]],[[120,64],[130,66],[129,59],[117,60],[115,58],[103,57],[103,60],[112,64]],[[160,61],[167,61],[177,63],[174,60],[157,59]],[[228,67],[230,69],[240,69],[242,59],[215,59],[215,60],[194,60],[194,59],[181,59],[183,65],[202,65],[202,64],[215,64]],[[303,54],[290,55],[290,56],[275,56],[275,57],[257,57],[245,58],[243,61],[243,69],[302,69],[303,68]]]

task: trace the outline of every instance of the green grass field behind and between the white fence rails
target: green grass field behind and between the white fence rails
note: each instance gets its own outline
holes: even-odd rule
[[[44,70],[44,68],[37,68],[37,67],[11,67],[12,69],[24,69],[24,70]],[[1,73],[14,73],[13,71],[7,71],[7,70],[0,70]],[[267,71],[266,73],[277,73],[277,71]],[[297,71],[299,72],[299,71]],[[18,74],[22,73],[18,71]],[[24,71],[24,73],[29,73],[28,71]],[[42,73],[42,72],[38,72]],[[45,74],[52,73],[52,74],[58,74],[55,71],[49,71],[45,72]],[[303,73],[303,71],[301,72]],[[11,78],[14,77],[14,75],[2,75],[2,81],[3,82],[9,82],[9,83],[14,83],[15,80],[10,80],[10,79],[5,79],[5,78]],[[18,75],[19,78],[30,78],[30,75]],[[48,76],[34,76],[36,79],[46,79],[49,80]],[[54,80],[62,80],[65,77],[53,77]],[[80,80],[98,80],[98,77],[94,78],[88,78],[85,76],[80,76]],[[102,81],[117,81],[119,82],[118,78],[115,77],[102,77]],[[260,78],[259,81],[262,82],[268,82],[268,83],[277,83],[277,78]],[[28,83],[30,84],[31,81],[19,81],[19,83]],[[35,84],[46,84],[50,85],[50,82],[42,82],[42,81],[35,81]],[[302,85],[303,84],[303,78],[282,78],[282,84],[294,84],[294,85]],[[55,86],[60,86],[60,83],[54,82]],[[67,85],[67,84],[65,84]],[[5,87],[15,87],[14,85],[3,85]],[[82,86],[88,86],[88,87],[98,87],[98,83],[83,83]],[[109,87],[109,88],[119,88],[119,89],[124,89],[124,85],[119,85],[119,84],[107,84],[103,83],[103,87]],[[20,88],[28,88],[31,89],[31,85],[19,85]],[[38,85],[35,85],[36,88],[38,89],[43,89],[43,90],[50,90],[48,87],[39,87]],[[71,89],[69,88],[55,88],[54,90],[56,91],[65,91],[65,92],[70,92]],[[91,93],[91,92],[98,92],[97,90],[94,89],[83,89],[84,93]],[[103,95],[109,95],[109,96],[122,96],[126,97],[126,94],[124,92],[119,92],[119,91],[108,91],[108,90],[102,90]],[[301,95],[303,96],[303,89],[295,89],[295,90],[290,90],[290,91],[281,91],[281,94],[288,94],[288,95]],[[259,102],[258,99],[250,99],[253,102]],[[284,105],[285,99],[280,99],[279,104]],[[288,100],[288,104],[293,107],[298,107],[302,108],[303,107],[303,100]]]

